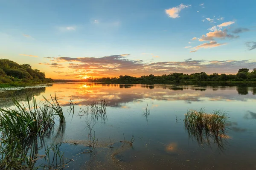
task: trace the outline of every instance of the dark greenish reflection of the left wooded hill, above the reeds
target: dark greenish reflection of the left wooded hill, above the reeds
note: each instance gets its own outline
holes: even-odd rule
[[[26,96],[29,100],[32,100],[33,96],[39,96],[41,93],[45,92],[45,87],[41,88],[24,88],[20,90],[10,90],[0,92],[0,107],[10,107],[13,104],[13,99],[21,102],[26,100]]]

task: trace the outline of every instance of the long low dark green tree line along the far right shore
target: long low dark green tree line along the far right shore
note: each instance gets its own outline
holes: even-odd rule
[[[232,82],[232,81],[256,81],[256,68],[253,68],[253,71],[249,71],[247,68],[241,68],[237,74],[206,74],[205,72],[201,73],[192,73],[192,74],[183,74],[183,73],[171,73],[163,74],[161,76],[154,76],[153,74],[141,76],[141,77],[132,77],[132,76],[119,76],[119,77],[103,77],[103,78],[92,78],[89,77],[84,80],[85,82]]]

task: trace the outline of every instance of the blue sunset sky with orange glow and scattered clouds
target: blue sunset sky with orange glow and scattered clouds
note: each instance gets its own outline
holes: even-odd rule
[[[255,0],[0,0],[0,58],[53,79],[256,68]]]

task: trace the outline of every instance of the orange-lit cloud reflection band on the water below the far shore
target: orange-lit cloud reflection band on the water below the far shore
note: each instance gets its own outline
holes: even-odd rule
[[[154,89],[149,88],[154,86]],[[193,85],[102,85],[97,83],[66,83],[54,84],[47,88],[46,96],[50,94],[60,99],[61,105],[67,105],[72,99],[78,105],[89,105],[93,101],[105,99],[108,106],[122,107],[129,102],[140,102],[144,99],[161,101],[184,101],[186,103],[201,101],[247,101],[256,100],[256,95],[251,93],[239,95],[237,88],[233,87],[210,87]],[[243,87],[244,88],[244,87]],[[182,90],[181,90],[182,89]],[[216,91],[212,91],[212,90]],[[253,88],[254,89],[254,88]],[[252,91],[248,88],[248,91]],[[239,89],[240,90],[240,89]]]

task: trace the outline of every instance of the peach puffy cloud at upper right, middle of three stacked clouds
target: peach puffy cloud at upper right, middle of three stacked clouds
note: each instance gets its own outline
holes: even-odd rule
[[[213,32],[209,32],[205,35],[202,35],[202,37],[199,39],[199,41],[213,41],[214,38],[221,38],[221,39],[225,39],[225,38],[238,38],[239,36],[234,36],[232,34],[227,34],[227,30],[216,30]]]

